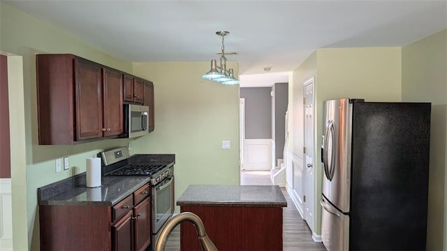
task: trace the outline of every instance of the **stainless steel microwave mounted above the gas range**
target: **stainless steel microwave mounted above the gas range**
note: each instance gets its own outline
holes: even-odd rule
[[[148,123],[149,106],[124,105],[124,138],[145,136]]]

